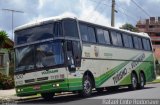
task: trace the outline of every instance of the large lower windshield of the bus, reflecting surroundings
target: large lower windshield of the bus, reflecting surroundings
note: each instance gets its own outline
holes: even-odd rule
[[[50,41],[16,49],[16,71],[51,67],[64,63],[63,43]]]

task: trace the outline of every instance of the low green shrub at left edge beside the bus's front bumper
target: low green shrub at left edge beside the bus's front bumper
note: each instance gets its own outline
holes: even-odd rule
[[[14,88],[13,77],[7,77],[6,75],[0,73],[0,89],[12,89]]]

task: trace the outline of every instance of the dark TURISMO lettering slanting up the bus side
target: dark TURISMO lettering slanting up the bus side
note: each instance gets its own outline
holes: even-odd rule
[[[114,84],[116,84],[118,81],[120,81],[126,74],[127,74],[126,68],[124,68],[122,71],[117,73],[116,76],[113,77]]]

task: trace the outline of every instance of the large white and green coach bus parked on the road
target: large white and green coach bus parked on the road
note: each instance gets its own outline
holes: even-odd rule
[[[50,18],[15,29],[18,96],[144,88],[155,79],[149,36],[72,17]]]

